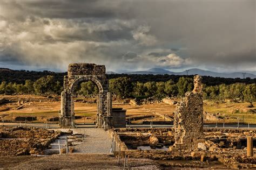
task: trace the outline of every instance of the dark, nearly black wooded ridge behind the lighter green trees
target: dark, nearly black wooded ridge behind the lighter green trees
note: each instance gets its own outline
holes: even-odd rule
[[[35,71],[26,71],[26,70],[10,70],[10,69],[1,69],[0,68],[0,82],[5,81],[16,82],[17,84],[24,84],[25,80],[31,80],[32,82],[37,81],[41,77],[46,77],[51,75],[54,77],[54,80],[59,81],[60,84],[63,84],[63,77],[68,73],[56,73],[56,72],[35,72]],[[152,74],[107,74],[107,79],[117,79],[118,77],[128,77],[131,82],[166,82],[172,80],[177,83],[180,77],[188,77],[193,79],[193,75],[152,75]],[[206,86],[216,86],[220,84],[234,84],[234,83],[246,83],[252,84],[256,83],[256,79],[250,79],[247,77],[246,79],[231,79],[231,78],[223,78],[223,77],[211,77],[211,76],[202,76],[202,82],[206,84]]]

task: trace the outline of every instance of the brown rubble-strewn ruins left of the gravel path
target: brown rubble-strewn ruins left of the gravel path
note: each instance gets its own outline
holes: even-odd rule
[[[0,155],[43,154],[43,150],[59,136],[59,131],[3,126],[0,129]]]

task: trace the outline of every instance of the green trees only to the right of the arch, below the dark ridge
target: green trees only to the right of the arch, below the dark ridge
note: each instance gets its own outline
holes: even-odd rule
[[[119,97],[183,97],[187,91],[193,89],[193,79],[180,77],[178,82],[172,80],[166,82],[131,82],[127,77],[119,77],[110,80],[110,90]],[[206,86],[203,84],[204,99],[224,101],[225,99],[240,100],[245,102],[256,101],[256,84],[234,83]]]

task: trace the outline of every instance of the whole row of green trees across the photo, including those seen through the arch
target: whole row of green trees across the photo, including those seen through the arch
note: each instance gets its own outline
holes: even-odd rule
[[[203,85],[203,95],[210,100],[241,100],[254,102],[256,95],[255,83],[233,83],[219,84],[215,86]],[[128,97],[182,97],[187,91],[193,89],[193,79],[191,77],[179,77],[175,82],[172,79],[167,81],[148,81],[133,82],[130,77],[118,77],[109,80],[110,91],[119,98]],[[56,81],[54,76],[48,75],[36,81],[26,80],[25,83],[6,83],[0,84],[0,94],[39,94],[39,95],[60,95],[63,86]],[[84,96],[98,94],[97,86],[91,82],[82,82],[76,87],[76,93]]]

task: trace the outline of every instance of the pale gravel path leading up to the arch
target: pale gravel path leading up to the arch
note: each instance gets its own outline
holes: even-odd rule
[[[78,128],[73,133],[85,133],[84,143],[75,146],[75,152],[79,153],[104,153],[109,154],[112,140],[104,129]]]

